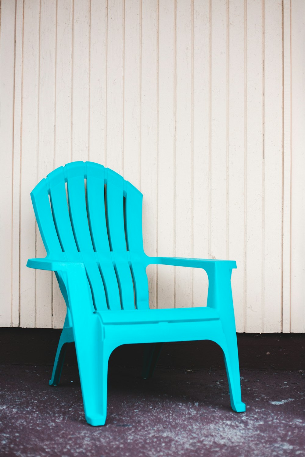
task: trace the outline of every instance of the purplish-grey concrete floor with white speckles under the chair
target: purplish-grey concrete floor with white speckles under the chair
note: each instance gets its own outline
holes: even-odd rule
[[[106,426],[91,427],[75,368],[55,388],[45,367],[2,368],[1,457],[305,456],[300,372],[243,370],[247,411],[236,414],[223,370],[157,368],[145,381],[134,368],[112,368]]]

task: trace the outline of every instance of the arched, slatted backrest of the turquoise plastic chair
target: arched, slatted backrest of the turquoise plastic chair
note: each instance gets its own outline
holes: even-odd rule
[[[149,308],[140,191],[102,165],[71,162],[31,197],[47,255],[84,262],[97,310]]]

